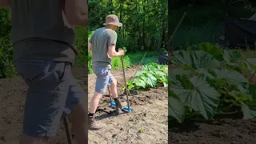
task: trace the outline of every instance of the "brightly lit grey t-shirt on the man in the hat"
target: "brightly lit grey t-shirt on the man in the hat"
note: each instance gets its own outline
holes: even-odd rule
[[[108,57],[109,46],[116,45],[117,33],[105,26],[95,30],[90,38],[92,44],[92,63],[94,67],[111,69],[111,58]]]

